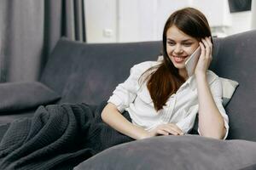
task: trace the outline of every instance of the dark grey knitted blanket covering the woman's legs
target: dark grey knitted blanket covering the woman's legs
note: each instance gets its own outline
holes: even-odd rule
[[[102,122],[101,105],[40,106],[32,119],[12,122],[0,144],[0,169],[73,169],[132,139]],[[124,115],[131,121],[129,114]]]

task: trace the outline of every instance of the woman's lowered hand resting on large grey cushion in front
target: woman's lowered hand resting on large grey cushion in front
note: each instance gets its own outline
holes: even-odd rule
[[[147,135],[143,138],[150,138],[158,135],[183,135],[183,131],[177,127],[176,124],[168,123],[168,124],[161,124],[154,129],[148,131]]]

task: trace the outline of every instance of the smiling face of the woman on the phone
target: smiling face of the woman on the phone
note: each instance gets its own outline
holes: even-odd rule
[[[173,65],[179,71],[185,71],[185,61],[198,48],[199,42],[176,26],[171,26],[166,32],[166,51]]]

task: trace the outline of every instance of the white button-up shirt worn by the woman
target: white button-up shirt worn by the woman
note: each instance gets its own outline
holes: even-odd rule
[[[140,87],[138,79],[148,68],[159,64],[160,61],[146,61],[134,65],[131,68],[130,77],[115,88],[108,102],[116,105],[120,112],[128,111],[132,123],[143,127],[145,130],[150,131],[160,124],[175,123],[183,133],[188,133],[194,126],[195,116],[199,111],[195,75],[189,77],[178,88],[176,94],[172,94],[163,109],[155,111],[154,103],[146,86],[147,82]],[[224,117],[224,126],[226,128],[224,139],[226,139],[229,131],[229,118],[222,105],[222,84],[219,77],[209,70],[207,71],[207,82],[211,88],[218,111]]]

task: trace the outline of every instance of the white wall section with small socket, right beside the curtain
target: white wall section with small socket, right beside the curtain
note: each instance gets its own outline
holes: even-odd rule
[[[117,1],[85,0],[87,42],[117,42]]]

